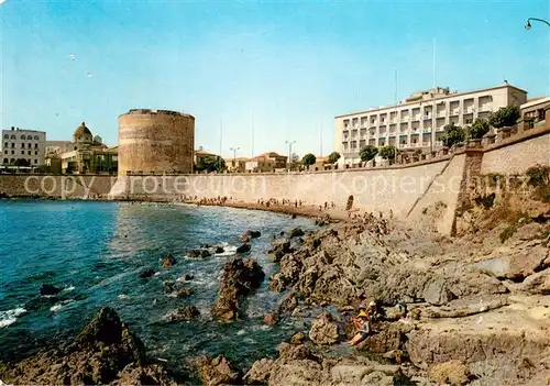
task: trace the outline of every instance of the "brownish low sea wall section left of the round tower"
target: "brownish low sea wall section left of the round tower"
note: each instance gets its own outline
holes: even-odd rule
[[[105,175],[0,175],[0,194],[11,197],[106,198],[116,181],[117,177]]]

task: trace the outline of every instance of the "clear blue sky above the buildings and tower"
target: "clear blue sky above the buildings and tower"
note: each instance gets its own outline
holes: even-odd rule
[[[48,140],[86,121],[114,145],[118,117],[150,108],[193,114],[195,147],[224,156],[327,155],[334,115],[433,78],[550,95],[550,27],[524,29],[549,0],[0,0],[0,126]]]

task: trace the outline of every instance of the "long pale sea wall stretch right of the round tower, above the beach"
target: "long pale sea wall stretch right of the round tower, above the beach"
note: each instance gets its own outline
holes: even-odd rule
[[[440,158],[406,167],[309,174],[128,176],[119,177],[111,197],[232,197],[246,202],[273,198],[301,200],[318,206],[334,202],[340,209],[344,209],[350,197],[353,197],[354,209],[392,210],[396,216],[405,216],[448,162],[449,158]]]

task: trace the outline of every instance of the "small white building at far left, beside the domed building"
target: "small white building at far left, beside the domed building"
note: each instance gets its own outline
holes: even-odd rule
[[[18,159],[25,159],[31,167],[44,165],[46,133],[37,130],[11,128],[2,130],[2,166],[14,166]]]

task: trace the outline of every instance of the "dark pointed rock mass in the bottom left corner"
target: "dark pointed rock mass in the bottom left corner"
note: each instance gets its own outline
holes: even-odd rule
[[[68,348],[55,348],[8,366],[2,381],[10,384],[109,384],[128,365],[140,368],[145,348],[114,310],[102,308]],[[153,370],[150,370],[153,371]],[[144,372],[147,372],[144,370]]]

